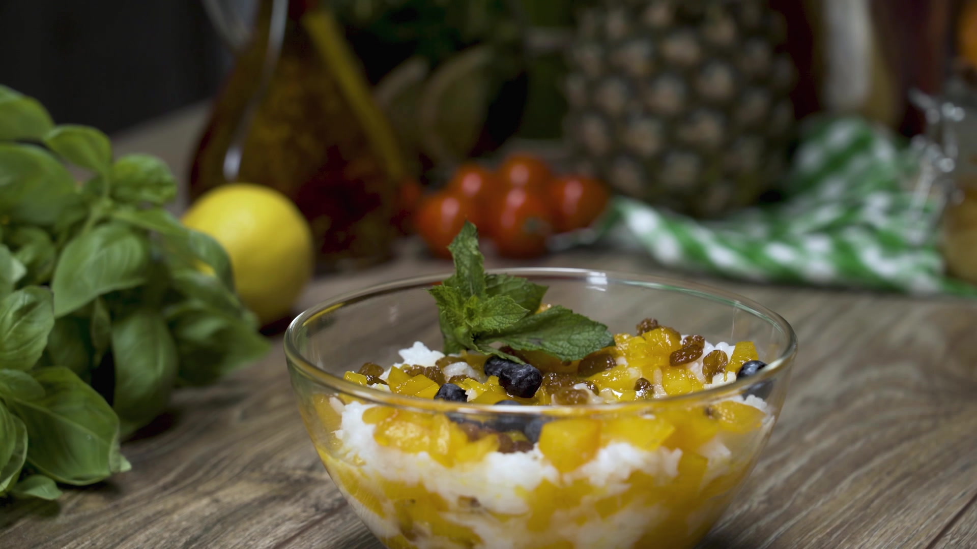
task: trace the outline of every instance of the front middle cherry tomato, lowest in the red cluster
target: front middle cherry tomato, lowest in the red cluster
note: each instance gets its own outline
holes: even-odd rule
[[[546,238],[553,233],[546,200],[527,189],[511,189],[494,201],[492,239],[499,255],[531,258],[546,252]]]

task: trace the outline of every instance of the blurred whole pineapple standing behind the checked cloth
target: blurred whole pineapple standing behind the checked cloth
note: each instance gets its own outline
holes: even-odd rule
[[[578,170],[698,217],[782,174],[794,69],[766,1],[603,0],[579,17],[564,128]]]

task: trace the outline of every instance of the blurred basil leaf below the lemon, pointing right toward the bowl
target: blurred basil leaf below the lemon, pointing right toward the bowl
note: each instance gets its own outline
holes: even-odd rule
[[[194,303],[171,308],[167,320],[180,356],[179,378],[205,385],[264,357],[268,340],[235,317]]]

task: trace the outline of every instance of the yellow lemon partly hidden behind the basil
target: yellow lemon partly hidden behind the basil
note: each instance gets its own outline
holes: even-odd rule
[[[237,294],[262,324],[288,314],[312,277],[312,231],[277,190],[223,185],[200,196],[183,222],[228,251]]]

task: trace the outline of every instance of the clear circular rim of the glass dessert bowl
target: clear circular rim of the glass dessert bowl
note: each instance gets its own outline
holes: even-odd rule
[[[298,317],[295,317],[285,330],[284,350],[288,359],[288,367],[296,371],[316,385],[327,387],[334,392],[342,393],[362,401],[371,403],[393,405],[401,408],[409,408],[418,411],[457,411],[470,412],[475,414],[500,413],[506,414],[527,414],[537,415],[545,410],[546,414],[577,415],[586,412],[611,412],[621,410],[633,410],[634,408],[650,408],[666,405],[670,403],[694,403],[696,401],[713,401],[728,398],[741,393],[752,386],[757,386],[773,377],[776,377],[782,369],[789,365],[790,359],[797,353],[797,337],[790,324],[777,313],[760,305],[759,303],[747,299],[739,294],[721,290],[698,282],[689,282],[677,278],[666,276],[656,276],[649,274],[629,274],[614,271],[590,270],[590,269],[571,269],[571,268],[518,268],[518,269],[497,269],[488,270],[489,274],[511,274],[514,276],[534,277],[556,277],[570,279],[581,284],[590,285],[604,284],[625,284],[648,289],[658,289],[676,293],[684,293],[690,296],[704,298],[720,304],[727,304],[736,309],[742,310],[754,317],[766,320],[776,327],[786,336],[786,346],[777,359],[770,361],[767,367],[763,368],[755,375],[744,379],[737,379],[733,383],[728,383],[719,387],[704,389],[687,395],[663,397],[660,399],[648,399],[642,401],[625,401],[616,403],[595,403],[595,404],[573,404],[573,405],[545,405],[545,406],[522,406],[522,405],[492,405],[492,404],[473,404],[454,401],[429,400],[418,397],[408,397],[395,393],[386,393],[362,387],[356,383],[346,381],[342,377],[335,376],[318,366],[311,360],[306,359],[299,352],[299,337],[302,327],[310,321],[329,315],[342,309],[347,305],[369,300],[372,297],[388,295],[404,290],[423,288],[433,285],[435,282],[444,280],[450,274],[427,274],[423,276],[413,276],[402,278],[391,282],[377,284],[361,290],[355,290],[338,295],[332,299],[319,303]],[[435,307],[434,298],[431,300],[432,311]],[[600,318],[595,318],[600,320]],[[413,342],[405,342],[405,346],[412,345]]]

